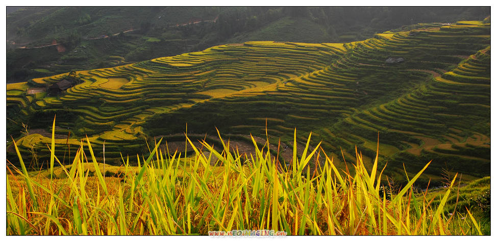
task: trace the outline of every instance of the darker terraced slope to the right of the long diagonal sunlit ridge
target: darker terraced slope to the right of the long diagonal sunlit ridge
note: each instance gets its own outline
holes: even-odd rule
[[[226,133],[264,135],[265,122],[247,117],[267,117],[270,136],[291,140],[285,136],[297,127],[304,142],[304,131],[312,130],[325,150],[341,157],[342,148],[349,160],[355,145],[371,157],[379,131],[382,160],[398,165],[399,174],[402,163],[416,166],[434,159],[429,172],[435,175],[444,168],[479,176],[488,173],[490,154],[488,31],[488,26],[458,25],[412,35],[380,34],[346,44],[339,60],[291,78],[277,92],[213,100],[145,127],[156,133],[159,123],[176,123],[180,132],[188,122],[191,129],[207,124]],[[388,57],[405,62],[386,64]],[[472,72],[461,75],[462,70]],[[202,124],[195,125],[188,114],[202,117]]]

